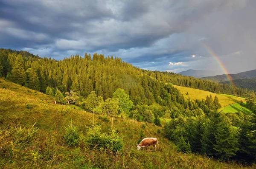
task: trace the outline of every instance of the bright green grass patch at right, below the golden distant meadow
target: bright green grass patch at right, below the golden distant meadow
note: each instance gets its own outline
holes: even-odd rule
[[[223,113],[236,113],[236,112],[242,112],[246,115],[251,114],[251,110],[246,107],[246,103],[243,103],[243,106],[239,103],[234,103],[231,105],[228,105],[226,107],[222,107],[220,110],[222,110]]]

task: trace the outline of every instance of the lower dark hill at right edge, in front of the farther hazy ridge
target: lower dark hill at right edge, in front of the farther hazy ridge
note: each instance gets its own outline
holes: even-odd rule
[[[253,79],[236,79],[232,81],[236,87],[256,91],[256,78]],[[230,81],[220,82],[230,84]]]

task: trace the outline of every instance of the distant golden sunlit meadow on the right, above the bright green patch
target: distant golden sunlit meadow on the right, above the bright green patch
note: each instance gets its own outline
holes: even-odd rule
[[[182,86],[176,86],[176,85],[174,85],[174,87],[180,90],[180,93],[182,93],[186,99],[190,98],[192,100],[194,99],[201,100],[201,99],[205,99],[207,96],[210,96],[210,95],[212,95],[212,98],[214,98],[217,95],[222,107],[225,107],[230,104],[234,104],[240,101],[241,99],[244,100],[244,98],[237,97],[237,96],[216,94],[216,93],[212,93],[204,90],[193,89],[190,87],[182,87]],[[189,94],[187,95],[187,93]]]

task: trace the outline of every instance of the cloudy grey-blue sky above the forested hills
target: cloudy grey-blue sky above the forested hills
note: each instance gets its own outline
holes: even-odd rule
[[[256,0],[0,0],[0,48],[239,73],[256,69],[255,8]]]

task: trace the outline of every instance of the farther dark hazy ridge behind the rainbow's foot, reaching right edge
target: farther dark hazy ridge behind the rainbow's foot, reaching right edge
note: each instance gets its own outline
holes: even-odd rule
[[[252,79],[252,78],[256,78],[256,69],[255,70],[246,71],[246,72],[237,73],[237,74],[228,74],[228,76],[230,76],[232,78],[232,80],[236,80],[236,79]],[[213,82],[229,81],[229,79],[227,78],[226,74],[217,75],[217,76],[207,76],[207,77],[202,77],[200,79],[211,80]]]

